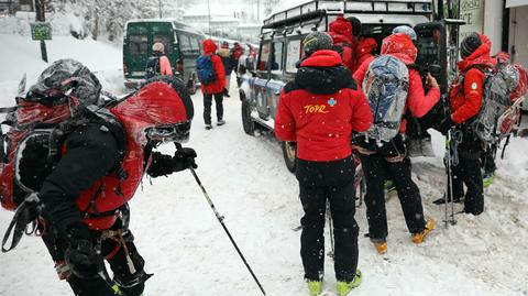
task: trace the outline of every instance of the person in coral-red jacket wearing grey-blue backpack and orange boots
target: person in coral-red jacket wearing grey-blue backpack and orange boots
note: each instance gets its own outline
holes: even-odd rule
[[[354,145],[365,174],[369,235],[377,252],[386,253],[385,179],[393,179],[396,186],[413,242],[421,243],[433,229],[432,219],[425,220],[420,191],[411,179],[403,114],[410,111],[414,117],[425,116],[440,99],[440,89],[437,80],[428,74],[430,89],[425,95],[420,74],[408,67],[417,56],[417,48],[408,35],[397,33],[385,37],[381,54],[370,64],[364,63],[354,74],[356,81],[363,86],[374,114],[373,128],[366,134],[355,136]],[[386,77],[393,77],[394,80],[386,81]],[[398,103],[391,105],[394,100],[398,100]],[[386,105],[380,107],[376,102]],[[391,112],[386,110],[387,106],[400,109],[391,109]]]

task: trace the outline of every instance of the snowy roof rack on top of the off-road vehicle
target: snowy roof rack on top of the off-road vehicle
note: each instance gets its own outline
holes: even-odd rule
[[[327,14],[377,13],[422,14],[432,13],[431,0],[314,0],[277,12],[264,20],[263,29],[276,29],[288,24],[322,18]]]

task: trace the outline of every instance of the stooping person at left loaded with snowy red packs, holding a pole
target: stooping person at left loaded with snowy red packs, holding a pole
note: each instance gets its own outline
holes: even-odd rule
[[[72,79],[76,86],[66,89]],[[1,191],[6,199],[25,201],[1,201],[7,208],[18,206],[15,229],[22,226],[23,231],[23,226],[38,221],[57,274],[75,295],[140,296],[152,274],[143,270],[144,259],[129,229],[128,201],[145,173],[157,177],[196,167],[193,149],[179,149],[174,156],[153,151],[165,141],[188,139],[193,102],[180,80],[169,77],[150,83],[111,108],[98,103],[99,94],[100,84],[88,68],[62,59],[18,98],[11,132],[18,132],[18,124],[30,130],[22,130],[25,140],[8,146],[9,162],[19,158],[12,151],[24,157],[16,176],[1,172],[2,180],[12,178],[1,184]],[[76,117],[68,118],[68,107],[75,108]],[[21,116],[28,112],[33,116]],[[50,134],[31,130],[43,122],[55,127],[59,138],[52,138],[55,130]],[[106,272],[105,260],[113,278]]]

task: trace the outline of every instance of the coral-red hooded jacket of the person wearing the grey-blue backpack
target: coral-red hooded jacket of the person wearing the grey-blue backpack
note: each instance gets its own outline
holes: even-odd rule
[[[409,109],[414,117],[424,117],[440,99],[440,89],[435,87],[429,89],[427,95],[425,94],[420,74],[413,67],[418,54],[415,44],[410,37],[403,33],[389,35],[383,40],[382,44],[382,55],[386,54],[399,58],[409,67],[409,91],[407,95],[407,105],[404,108],[404,113],[407,112],[407,109]],[[365,78],[365,74],[369,70],[370,65],[371,63],[365,62],[354,73],[354,79],[359,85],[363,84],[363,79]],[[405,133],[406,130],[407,121],[403,119],[399,127],[399,132]]]

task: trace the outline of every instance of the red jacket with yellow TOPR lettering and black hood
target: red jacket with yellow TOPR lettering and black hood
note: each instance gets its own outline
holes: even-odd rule
[[[295,79],[280,94],[275,134],[297,142],[297,157],[327,162],[351,155],[352,131],[372,123],[365,96],[333,51],[318,51],[305,59]]]

